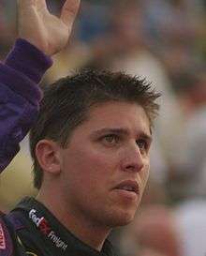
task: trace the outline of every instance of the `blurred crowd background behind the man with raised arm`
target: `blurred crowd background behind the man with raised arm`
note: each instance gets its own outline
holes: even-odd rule
[[[0,58],[12,47],[16,1],[0,1]],[[62,0],[48,1],[58,14]],[[42,83],[81,68],[125,70],[162,93],[151,176],[135,220],[111,233],[120,256],[206,255],[206,1],[83,0],[73,35]],[[28,139],[0,177],[8,211],[35,195]]]

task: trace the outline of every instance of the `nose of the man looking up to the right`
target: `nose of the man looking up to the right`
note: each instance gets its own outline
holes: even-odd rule
[[[144,166],[144,159],[137,144],[128,146],[122,159],[122,170],[139,173]]]

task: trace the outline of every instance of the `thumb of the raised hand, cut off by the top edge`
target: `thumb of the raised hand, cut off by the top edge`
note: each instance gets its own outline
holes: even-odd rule
[[[81,0],[66,0],[61,12],[61,20],[66,25],[72,26],[80,8]]]

